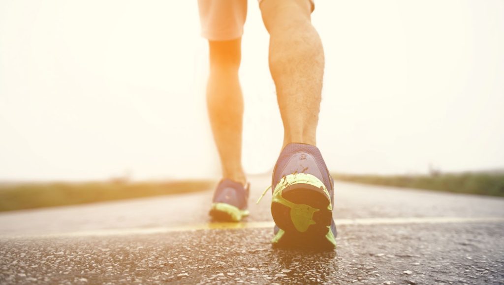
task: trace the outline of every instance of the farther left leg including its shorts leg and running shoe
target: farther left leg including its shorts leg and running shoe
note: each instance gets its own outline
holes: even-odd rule
[[[209,215],[239,222],[248,215],[249,192],[241,167],[243,99],[238,81],[247,0],[198,0],[198,9],[201,34],[210,47],[207,105],[223,176]]]

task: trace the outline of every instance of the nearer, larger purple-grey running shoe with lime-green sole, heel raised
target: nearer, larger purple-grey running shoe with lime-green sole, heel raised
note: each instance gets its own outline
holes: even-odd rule
[[[336,247],[333,185],[317,147],[293,143],[283,149],[271,184],[271,214],[276,224],[273,246]]]

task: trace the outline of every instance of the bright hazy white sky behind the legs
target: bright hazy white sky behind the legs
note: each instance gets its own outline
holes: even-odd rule
[[[504,166],[503,1],[316,2],[331,170]],[[0,180],[219,175],[197,2],[176,3],[0,2]],[[283,132],[268,34],[248,6],[243,164],[261,173]]]

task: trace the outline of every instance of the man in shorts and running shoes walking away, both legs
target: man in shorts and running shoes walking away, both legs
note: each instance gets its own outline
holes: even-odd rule
[[[333,179],[319,149],[324,50],[311,25],[310,0],[259,0],[270,34],[269,65],[284,126],[273,170],[274,245],[334,248]],[[210,215],[240,221],[248,215],[241,165],[243,98],[238,78],[246,0],[199,0],[202,35],[209,41],[207,104],[223,178]]]

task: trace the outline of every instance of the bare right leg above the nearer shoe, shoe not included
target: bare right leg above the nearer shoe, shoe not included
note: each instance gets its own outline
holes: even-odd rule
[[[269,64],[290,142],[316,145],[324,76],[324,50],[311,25],[309,0],[263,0],[263,21],[270,34]]]

